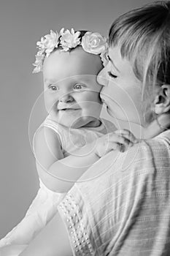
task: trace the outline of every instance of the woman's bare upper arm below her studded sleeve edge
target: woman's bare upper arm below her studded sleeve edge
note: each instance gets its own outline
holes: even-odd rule
[[[57,213],[19,256],[72,256],[66,227]]]

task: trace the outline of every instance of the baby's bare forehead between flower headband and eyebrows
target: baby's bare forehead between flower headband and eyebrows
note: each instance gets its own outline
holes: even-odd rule
[[[55,50],[44,62],[44,73],[48,76],[58,77],[76,75],[97,75],[102,69],[102,62],[99,55],[87,53],[82,47],[63,52]]]

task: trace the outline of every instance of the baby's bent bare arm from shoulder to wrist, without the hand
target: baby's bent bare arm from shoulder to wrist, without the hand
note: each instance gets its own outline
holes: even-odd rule
[[[67,192],[99,159],[94,146],[95,142],[63,158],[59,136],[53,129],[41,127],[34,137],[34,154],[39,177],[45,186],[54,192]]]

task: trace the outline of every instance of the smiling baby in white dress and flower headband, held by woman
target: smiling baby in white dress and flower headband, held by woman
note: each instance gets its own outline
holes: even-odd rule
[[[114,125],[100,118],[101,85],[96,76],[107,52],[107,40],[101,34],[61,29],[59,34],[50,31],[37,45],[34,72],[43,72],[48,112],[33,143],[40,189],[26,217],[1,239],[0,246],[29,244],[53,218],[81,173],[108,151],[135,142],[130,132],[113,133]],[[83,149],[89,144],[91,150],[98,148],[98,155],[82,161]]]

